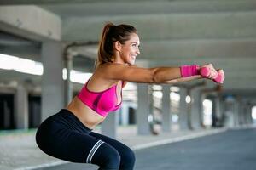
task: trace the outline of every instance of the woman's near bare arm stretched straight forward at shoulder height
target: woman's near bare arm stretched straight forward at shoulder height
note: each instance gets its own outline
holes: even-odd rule
[[[102,78],[123,80],[126,82],[144,82],[144,83],[175,83],[187,82],[195,79],[202,78],[199,74],[197,66],[194,72],[189,76],[189,71],[184,75],[184,70],[181,67],[155,67],[155,68],[142,68],[137,66],[129,66],[122,64],[104,64],[101,65],[97,71],[100,71]],[[217,74],[217,71],[212,66],[212,73],[209,78]]]

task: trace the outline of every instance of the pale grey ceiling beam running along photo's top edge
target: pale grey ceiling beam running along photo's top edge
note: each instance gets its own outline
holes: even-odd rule
[[[11,1],[13,2],[13,1]],[[38,3],[40,1],[33,1]],[[58,2],[58,3],[57,3]],[[256,2],[253,0],[214,0],[214,1],[94,1],[89,3],[46,3],[40,7],[46,8],[61,17],[68,16],[105,16],[105,15],[137,15],[137,14],[180,14],[180,13],[218,13],[253,11]],[[76,10],[73,10],[75,8]]]

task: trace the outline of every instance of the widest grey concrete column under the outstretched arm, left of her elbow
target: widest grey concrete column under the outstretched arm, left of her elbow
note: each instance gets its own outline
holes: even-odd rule
[[[137,84],[137,133],[150,134],[148,123],[149,111],[148,85]]]

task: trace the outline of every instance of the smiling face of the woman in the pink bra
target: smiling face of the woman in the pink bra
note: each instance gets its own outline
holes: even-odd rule
[[[139,50],[140,39],[136,33],[132,33],[130,39],[124,44],[120,44],[119,54],[124,63],[134,65],[137,55],[140,54]]]

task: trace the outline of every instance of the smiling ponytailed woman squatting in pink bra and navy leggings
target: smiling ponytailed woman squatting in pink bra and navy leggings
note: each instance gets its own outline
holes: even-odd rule
[[[96,70],[79,94],[38,128],[38,147],[49,156],[80,163],[92,163],[104,170],[133,169],[135,156],[125,144],[91,132],[104,121],[109,111],[122,104],[126,82],[173,83],[201,78],[198,65],[139,68],[134,65],[139,37],[133,26],[108,23],[102,30]],[[212,65],[207,78],[218,75]]]

